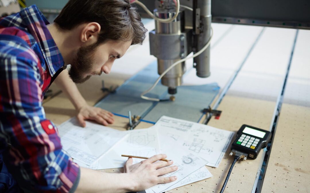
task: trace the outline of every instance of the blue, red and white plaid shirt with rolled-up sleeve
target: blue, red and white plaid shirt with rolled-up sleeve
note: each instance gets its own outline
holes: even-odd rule
[[[35,5],[0,19],[0,153],[21,187],[74,192],[79,166],[42,107],[64,66],[47,24]]]

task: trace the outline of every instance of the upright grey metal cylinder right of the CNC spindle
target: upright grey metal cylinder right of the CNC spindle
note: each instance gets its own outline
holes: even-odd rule
[[[197,35],[198,52],[203,48],[211,36],[211,0],[197,1],[200,8],[201,31]],[[210,46],[194,59],[196,63],[197,76],[206,78],[210,76]]]

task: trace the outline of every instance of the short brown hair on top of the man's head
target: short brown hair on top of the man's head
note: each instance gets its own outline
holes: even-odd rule
[[[71,30],[81,23],[99,23],[101,30],[96,45],[107,40],[142,44],[147,31],[129,0],[69,0],[54,22],[63,30]]]

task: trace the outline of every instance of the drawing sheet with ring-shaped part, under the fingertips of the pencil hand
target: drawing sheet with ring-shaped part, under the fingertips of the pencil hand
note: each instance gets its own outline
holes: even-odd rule
[[[193,153],[188,153],[186,150],[182,151],[182,149],[179,147],[176,147],[174,149],[174,152],[170,152],[168,158],[172,158],[174,164],[172,166],[178,166],[178,170],[162,175],[161,177],[170,177],[170,176],[176,176],[177,180],[174,182],[166,183],[166,184],[157,184],[153,187],[150,187],[146,190],[146,192],[155,192],[160,193],[164,191],[168,191],[173,189],[172,187],[175,187],[177,183],[181,183],[183,179],[186,179],[187,176],[192,174],[193,172],[199,170],[202,166],[205,166],[207,161],[194,155]],[[182,152],[182,155],[179,153]],[[194,177],[192,177],[194,178]],[[193,179],[187,180],[187,182],[193,182]],[[183,186],[183,185],[179,185]],[[178,187],[179,187],[178,186]]]

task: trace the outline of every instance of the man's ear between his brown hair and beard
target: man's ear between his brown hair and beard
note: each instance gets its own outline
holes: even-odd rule
[[[81,42],[91,45],[97,42],[100,33],[100,25],[96,22],[87,23],[81,31]]]

